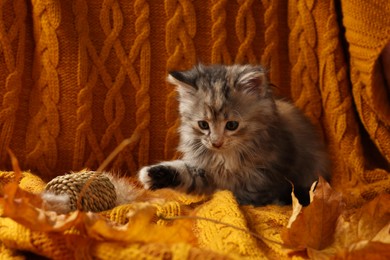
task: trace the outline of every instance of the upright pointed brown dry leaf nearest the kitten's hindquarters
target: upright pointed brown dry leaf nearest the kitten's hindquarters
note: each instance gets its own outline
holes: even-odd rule
[[[320,177],[313,201],[303,208],[290,228],[282,231],[285,245],[297,250],[321,250],[330,245],[343,205],[341,193]]]

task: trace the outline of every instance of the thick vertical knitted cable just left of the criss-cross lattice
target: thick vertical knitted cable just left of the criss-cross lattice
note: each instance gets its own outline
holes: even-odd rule
[[[35,26],[36,55],[34,62],[34,91],[40,104],[32,111],[30,131],[27,132],[27,163],[43,174],[54,170],[58,159],[57,137],[60,132],[60,85],[58,78],[59,43],[57,28],[61,23],[59,1],[32,1]],[[39,58],[38,58],[39,57]]]

